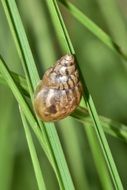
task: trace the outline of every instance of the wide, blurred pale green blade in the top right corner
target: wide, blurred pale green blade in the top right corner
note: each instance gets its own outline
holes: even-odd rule
[[[127,27],[118,2],[115,0],[97,0],[114,42],[127,55]],[[106,5],[106,6],[104,6]],[[112,19],[110,19],[112,17]]]

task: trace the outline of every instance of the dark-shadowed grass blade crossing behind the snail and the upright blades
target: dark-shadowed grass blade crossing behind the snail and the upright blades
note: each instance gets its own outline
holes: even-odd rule
[[[30,97],[28,88],[27,88],[27,84],[26,84],[26,80],[22,76],[14,73],[12,71],[10,73],[11,73],[12,78],[14,79],[15,83],[19,87],[19,90],[22,89],[23,95]],[[7,85],[7,82],[5,81],[5,79],[3,78],[1,73],[0,73],[0,83]],[[81,122],[83,124],[85,123],[85,125],[87,125],[87,123],[90,126],[93,125],[91,118],[89,117],[88,111],[82,107],[78,107],[75,110],[75,112],[73,112],[71,114],[71,116],[74,119],[77,119],[79,122]],[[116,121],[113,121],[112,119],[106,118],[104,116],[100,116],[100,120],[101,120],[103,129],[107,134],[117,137],[120,140],[127,142],[127,126],[126,125],[124,125],[122,123],[118,123]]]

